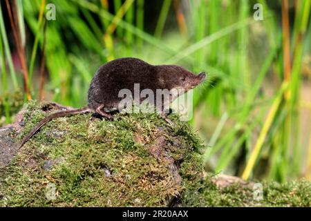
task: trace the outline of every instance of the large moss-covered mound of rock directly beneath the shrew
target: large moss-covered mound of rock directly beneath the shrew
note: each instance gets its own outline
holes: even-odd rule
[[[16,143],[55,111],[29,102]],[[202,177],[201,142],[157,114],[53,119],[0,169],[0,206],[166,206]],[[53,195],[55,191],[55,195]],[[51,197],[48,197],[48,194]]]

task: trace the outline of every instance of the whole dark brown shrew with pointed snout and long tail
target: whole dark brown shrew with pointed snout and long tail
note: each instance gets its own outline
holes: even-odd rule
[[[135,58],[115,59],[101,66],[95,73],[88,89],[88,106],[72,111],[60,111],[42,119],[23,138],[19,148],[41,126],[56,117],[96,112],[112,119],[113,117],[109,112],[117,110],[117,106],[122,99],[122,97],[118,97],[119,91],[127,88],[133,93],[134,84],[140,84],[140,90],[151,89],[156,94],[156,89],[171,90],[176,87],[183,88],[187,91],[200,84],[203,79],[205,79],[205,73],[194,75],[180,66],[153,66]]]

